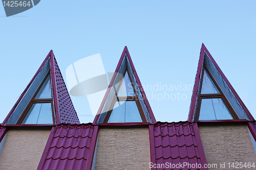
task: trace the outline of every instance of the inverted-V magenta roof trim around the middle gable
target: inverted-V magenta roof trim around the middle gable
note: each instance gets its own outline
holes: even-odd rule
[[[155,116],[154,116],[153,111],[152,111],[152,109],[151,109],[151,107],[150,107],[150,103],[148,102],[148,100],[147,100],[147,98],[146,98],[146,94],[145,94],[145,92],[144,92],[144,90],[143,90],[143,87],[142,87],[141,82],[140,82],[140,80],[139,80],[139,77],[138,77],[138,75],[137,75],[136,69],[135,69],[135,67],[134,67],[134,65],[133,65],[133,61],[132,61],[132,58],[131,58],[131,56],[130,56],[130,54],[129,54],[128,48],[127,48],[127,46],[125,46],[124,49],[123,49],[122,55],[121,55],[121,57],[120,57],[120,59],[119,59],[119,62],[118,62],[118,64],[117,64],[115,73],[114,73],[114,75],[113,75],[113,77],[112,77],[112,79],[111,79],[109,88],[108,88],[108,90],[106,90],[106,93],[105,93],[104,98],[103,98],[103,100],[102,100],[102,102],[101,102],[101,105],[100,105],[100,107],[99,107],[99,110],[98,110],[98,112],[97,112],[97,114],[96,114],[96,116],[95,116],[95,118],[94,118],[93,125],[96,125],[97,120],[99,119],[101,110],[103,109],[104,104],[105,104],[105,102],[106,102],[106,99],[108,98],[108,95],[109,95],[109,93],[110,93],[111,87],[112,87],[113,84],[114,84],[115,78],[116,78],[117,73],[118,73],[118,71],[119,71],[119,69],[120,69],[120,67],[121,67],[121,64],[122,64],[122,61],[123,61],[123,58],[124,58],[125,54],[127,55],[127,58],[128,58],[128,60],[129,60],[129,62],[130,62],[130,64],[131,64],[131,67],[132,67],[132,70],[133,70],[133,74],[134,74],[135,80],[136,80],[136,82],[137,82],[137,84],[138,84],[138,87],[139,87],[139,89],[140,89],[140,91],[141,91],[141,94],[142,94],[142,96],[144,96],[144,102],[145,102],[145,105],[146,105],[146,107],[147,107],[148,113],[150,114],[152,123],[153,123],[153,124],[156,123]]]

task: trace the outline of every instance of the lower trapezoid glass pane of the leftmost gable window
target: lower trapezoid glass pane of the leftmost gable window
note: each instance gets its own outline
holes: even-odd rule
[[[22,124],[53,124],[51,103],[33,103]]]

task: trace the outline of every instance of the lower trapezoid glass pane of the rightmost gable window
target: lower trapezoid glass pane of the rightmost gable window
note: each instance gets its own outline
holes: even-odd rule
[[[221,98],[202,99],[199,120],[233,119]]]

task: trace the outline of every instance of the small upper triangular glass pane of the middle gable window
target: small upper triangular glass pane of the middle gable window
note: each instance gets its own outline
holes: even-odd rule
[[[127,71],[124,74],[117,96],[135,96],[133,86]]]

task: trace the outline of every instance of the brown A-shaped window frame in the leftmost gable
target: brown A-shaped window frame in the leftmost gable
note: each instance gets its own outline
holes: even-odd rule
[[[26,117],[26,115],[28,114],[31,106],[35,103],[51,103],[51,107],[52,107],[52,121],[53,124],[55,123],[55,118],[54,118],[54,107],[53,107],[53,99],[35,99],[36,94],[38,93],[38,91],[40,90],[40,88],[42,87],[42,84],[44,84],[44,82],[46,81],[47,77],[50,76],[50,84],[51,84],[51,92],[52,92],[52,81],[51,81],[51,74],[50,74],[50,70],[48,71],[48,73],[46,74],[44,80],[42,80],[41,84],[39,85],[39,87],[37,88],[37,90],[35,91],[34,95],[32,96],[32,99],[29,101],[29,104],[27,105],[27,107],[25,108],[25,110],[23,111],[22,115],[20,115],[16,125],[25,125],[22,124],[24,118]],[[53,93],[52,93],[53,95]],[[37,125],[37,124],[32,124],[32,125]]]

